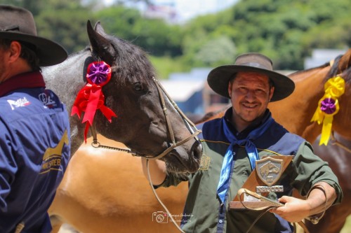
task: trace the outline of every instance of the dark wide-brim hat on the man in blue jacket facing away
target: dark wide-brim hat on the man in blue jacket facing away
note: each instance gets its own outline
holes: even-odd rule
[[[0,5],[0,38],[31,44],[29,48],[39,57],[39,66],[59,64],[67,58],[61,45],[37,36],[34,17],[24,8]]]

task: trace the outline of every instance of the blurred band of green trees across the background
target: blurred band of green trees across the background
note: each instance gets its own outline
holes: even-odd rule
[[[350,0],[241,0],[185,24],[145,18],[125,2],[102,7],[97,0],[0,0],[31,10],[39,36],[69,53],[88,45],[87,20],[99,20],[107,33],[148,52],[161,78],[195,66],[232,64],[242,52],[263,52],[274,69],[303,69],[312,49],[351,45]]]

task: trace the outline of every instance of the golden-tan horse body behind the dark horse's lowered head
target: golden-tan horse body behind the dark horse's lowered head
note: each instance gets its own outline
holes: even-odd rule
[[[123,146],[103,136],[99,138],[101,143]],[[84,233],[178,232],[169,218],[168,223],[155,220],[154,214],[164,209],[145,179],[140,158],[96,149],[89,143],[91,139],[69,162],[49,214],[60,216],[63,223]],[[187,183],[159,188],[157,193],[176,222],[180,221]]]

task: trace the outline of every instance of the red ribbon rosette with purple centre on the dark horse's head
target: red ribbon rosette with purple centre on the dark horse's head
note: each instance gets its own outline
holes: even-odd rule
[[[111,73],[111,67],[105,62],[92,62],[89,64],[86,72],[88,83],[78,92],[72,106],[71,116],[77,114],[81,118],[81,113],[85,112],[82,120],[82,123],[86,122],[84,130],[85,142],[89,127],[93,125],[94,116],[98,109],[110,123],[112,122],[112,117],[117,118],[117,115],[105,106],[105,96],[102,93],[102,86],[110,81]]]

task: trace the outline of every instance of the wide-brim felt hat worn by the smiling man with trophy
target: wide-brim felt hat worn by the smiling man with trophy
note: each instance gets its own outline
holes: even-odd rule
[[[257,52],[239,55],[232,65],[218,66],[208,73],[207,83],[213,91],[230,99],[228,84],[239,71],[251,71],[267,75],[274,85],[272,101],[288,97],[295,89],[295,83],[282,73],[273,71],[272,60]]]

